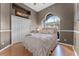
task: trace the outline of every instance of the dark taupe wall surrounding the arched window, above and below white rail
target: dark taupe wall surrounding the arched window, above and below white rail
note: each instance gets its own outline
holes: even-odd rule
[[[38,26],[47,13],[51,12],[53,15],[60,17],[61,30],[73,30],[74,26],[74,5],[71,3],[57,3],[38,13]],[[62,42],[73,44],[73,33],[60,32],[60,39]],[[70,37],[71,36],[71,37]]]

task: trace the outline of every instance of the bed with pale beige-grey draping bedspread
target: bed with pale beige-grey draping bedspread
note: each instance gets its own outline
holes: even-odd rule
[[[47,31],[46,31],[47,32]],[[23,45],[33,53],[33,56],[48,56],[57,44],[57,34],[30,33],[26,35]]]

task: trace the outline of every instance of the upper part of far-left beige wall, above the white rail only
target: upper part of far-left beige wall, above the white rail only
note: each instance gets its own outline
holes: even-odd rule
[[[10,29],[10,4],[1,4],[1,30]]]

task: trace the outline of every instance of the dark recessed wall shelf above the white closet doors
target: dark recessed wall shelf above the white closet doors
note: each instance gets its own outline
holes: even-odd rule
[[[29,19],[29,16],[31,15],[31,11],[28,11],[14,3],[12,4],[12,11],[16,16],[27,18],[27,19]]]

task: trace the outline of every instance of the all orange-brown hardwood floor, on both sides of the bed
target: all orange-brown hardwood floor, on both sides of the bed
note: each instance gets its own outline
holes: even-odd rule
[[[0,52],[0,56],[32,56],[32,53],[17,43]],[[51,56],[75,56],[75,53],[71,47],[58,44]]]

